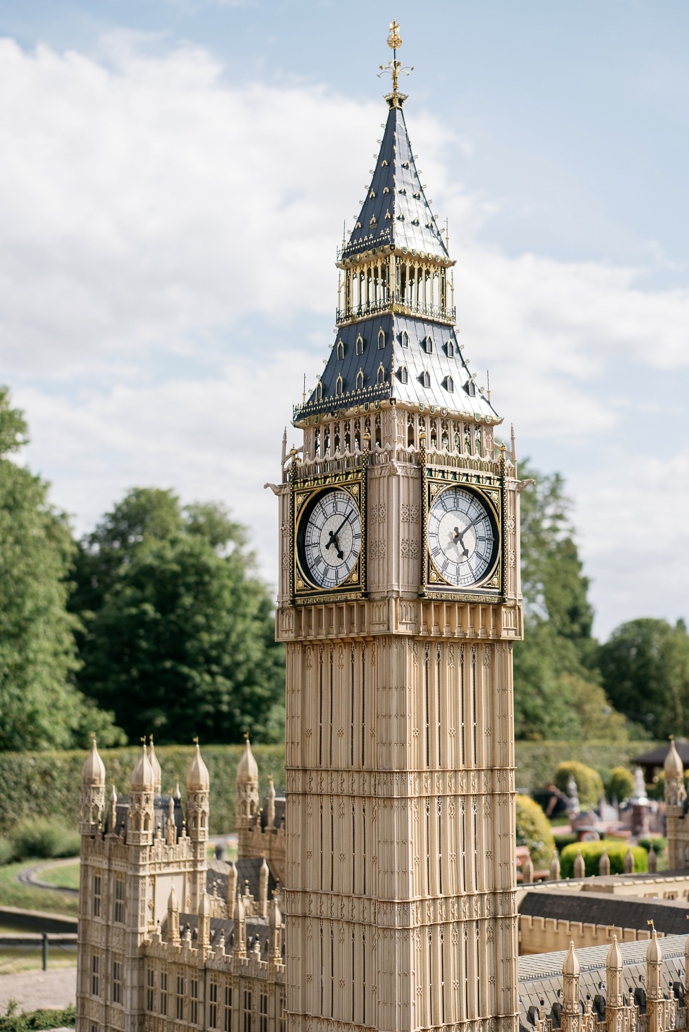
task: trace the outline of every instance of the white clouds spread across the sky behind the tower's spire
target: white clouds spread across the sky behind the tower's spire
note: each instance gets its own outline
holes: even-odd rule
[[[326,355],[335,248],[384,107],[299,84],[229,86],[208,52],[152,55],[124,33],[99,60],[0,40],[0,341],[4,377],[24,384],[32,464],[81,526],[134,484],[225,497],[255,526],[270,574],[275,512],[260,488],[278,475],[302,370],[313,380]],[[643,291],[633,269],[480,244],[495,203],[463,191],[447,157],[466,157],[471,141],[419,111],[409,125],[434,208],[450,216],[459,323],[479,382],[488,366],[519,434],[614,444],[625,411],[657,404],[650,389],[630,396],[616,369],[636,363],[651,383],[689,364],[689,291]],[[268,335],[251,350],[228,343],[256,316]],[[168,372],[179,362],[203,372]],[[664,461],[684,471],[686,456],[670,448]],[[657,556],[641,551],[634,580],[633,524],[607,534],[593,515],[594,502],[607,507],[615,526],[628,482],[613,467],[586,482],[581,507],[591,572],[597,585],[621,574],[609,612],[624,609],[615,591],[641,583],[658,608]],[[666,472],[657,490],[675,505]],[[686,547],[678,520],[649,518],[665,557]],[[682,589],[676,577],[672,598]]]

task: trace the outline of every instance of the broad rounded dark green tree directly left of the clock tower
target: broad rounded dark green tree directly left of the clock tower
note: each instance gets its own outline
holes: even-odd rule
[[[130,737],[281,735],[284,652],[245,545],[221,506],[183,508],[171,491],[144,488],[82,542],[80,685]]]

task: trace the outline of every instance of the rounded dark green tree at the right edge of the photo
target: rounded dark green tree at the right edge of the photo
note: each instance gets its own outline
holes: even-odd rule
[[[689,635],[683,620],[623,623],[599,649],[603,687],[654,737],[689,734]]]

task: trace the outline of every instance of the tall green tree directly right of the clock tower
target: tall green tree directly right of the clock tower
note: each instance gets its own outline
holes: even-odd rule
[[[535,486],[521,495],[525,640],[514,647],[520,739],[626,738],[599,683],[589,579],[583,572],[560,474],[522,463]]]

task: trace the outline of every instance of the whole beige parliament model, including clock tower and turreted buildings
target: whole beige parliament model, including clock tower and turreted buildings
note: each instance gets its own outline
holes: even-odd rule
[[[285,794],[270,784],[259,807],[247,741],[239,859],[209,861],[198,744],[183,807],[179,789],[161,795],[153,744],[128,796],[106,799],[94,742],[82,784],[76,1032],[686,1026],[655,931],[621,946],[608,932],[606,961],[587,966],[570,946],[564,968],[560,958],[552,970],[550,954],[543,970],[538,957],[518,969],[523,484],[513,436],[494,436],[502,418],[455,329],[455,262],[407,135],[397,23],[388,44],[380,153],[338,255],[336,338],[293,413],[303,445],[283,448],[282,482],[270,485]],[[584,893],[568,893],[585,908]],[[641,935],[651,938],[639,946]],[[621,949],[647,946],[641,1008]],[[588,1002],[583,969],[599,976]]]

